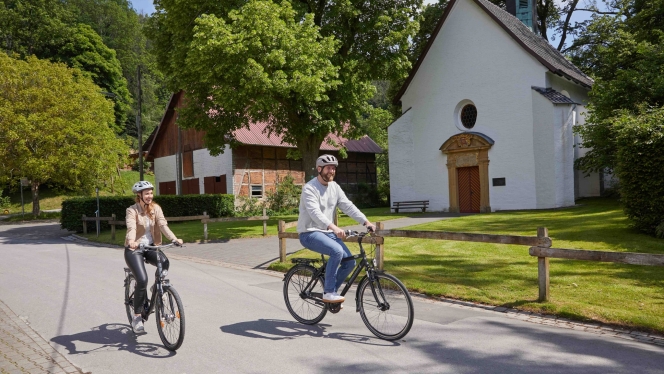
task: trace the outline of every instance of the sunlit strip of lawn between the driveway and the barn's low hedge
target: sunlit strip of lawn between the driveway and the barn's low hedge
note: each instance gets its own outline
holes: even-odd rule
[[[390,219],[407,217],[417,213],[390,213],[390,208],[369,208],[363,209],[364,214],[372,222],[387,221]],[[421,213],[420,213],[421,214]],[[277,235],[277,223],[279,220],[286,222],[297,221],[297,215],[285,215],[271,217],[267,222],[267,234]],[[355,220],[345,215],[340,215],[339,225],[350,226],[357,224]],[[172,222],[168,225],[173,233],[186,243],[199,242],[203,240],[203,224],[200,221],[190,222]],[[296,228],[290,228],[288,231],[296,231]],[[111,231],[104,230],[99,234],[94,231],[94,225],[88,224],[88,234],[85,235],[90,240],[102,243],[111,243],[117,245],[124,244],[124,237],[127,230],[124,226],[116,227],[115,241],[111,240]],[[214,222],[208,223],[209,240],[227,240],[237,238],[259,237],[263,235],[263,221],[236,221],[236,222]],[[275,239],[275,246],[277,241]]]

